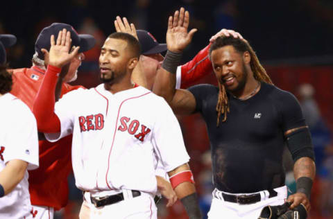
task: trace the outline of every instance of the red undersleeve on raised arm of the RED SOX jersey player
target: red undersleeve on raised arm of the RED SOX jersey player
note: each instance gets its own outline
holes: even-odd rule
[[[33,103],[33,114],[37,120],[38,131],[44,133],[60,132],[60,120],[54,113],[56,84],[61,69],[49,65],[44,80]]]

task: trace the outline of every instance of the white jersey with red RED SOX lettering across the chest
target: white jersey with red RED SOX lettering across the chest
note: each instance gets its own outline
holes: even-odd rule
[[[189,161],[176,116],[144,87],[112,94],[104,85],[65,94],[55,112],[61,132],[73,133],[76,186],[85,191],[133,189],[156,193],[156,162],[169,172]]]

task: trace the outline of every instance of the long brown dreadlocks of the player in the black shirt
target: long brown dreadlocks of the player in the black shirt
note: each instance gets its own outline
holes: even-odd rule
[[[216,49],[220,49],[223,46],[233,46],[234,49],[239,53],[244,53],[248,51],[250,53],[250,67],[253,71],[253,76],[255,80],[259,82],[266,82],[268,84],[273,85],[271,78],[266,73],[262,64],[260,64],[257,55],[255,55],[255,51],[253,51],[252,47],[246,40],[241,40],[239,38],[234,37],[218,37],[210,46],[210,58],[212,56],[212,51]],[[211,59],[212,60],[212,59]],[[228,96],[227,92],[225,91],[224,85],[221,85],[219,82],[219,98],[216,104],[216,114],[217,114],[217,121],[216,126],[219,126],[221,114],[223,114],[222,122],[227,121],[227,112],[230,112],[230,106],[228,103]]]

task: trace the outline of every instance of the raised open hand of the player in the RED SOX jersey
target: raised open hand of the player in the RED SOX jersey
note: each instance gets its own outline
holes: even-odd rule
[[[42,49],[42,52],[49,57],[49,64],[55,67],[63,67],[65,64],[71,62],[71,60],[78,54],[80,47],[76,47],[69,53],[71,49],[71,33],[65,28],[59,31],[57,42],[54,40],[54,35],[51,35],[51,48],[47,52],[46,49]]]

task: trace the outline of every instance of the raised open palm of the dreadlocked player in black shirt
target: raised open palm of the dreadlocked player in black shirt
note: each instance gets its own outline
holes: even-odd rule
[[[167,47],[169,51],[180,53],[191,42],[197,29],[191,29],[188,33],[188,27],[189,12],[185,11],[184,8],[180,8],[180,11],[176,10],[173,17],[169,17],[167,30]]]

